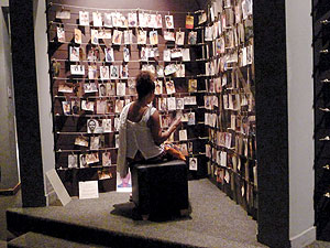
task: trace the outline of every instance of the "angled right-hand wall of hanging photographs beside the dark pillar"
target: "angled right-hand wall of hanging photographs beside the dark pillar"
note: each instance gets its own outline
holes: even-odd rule
[[[205,13],[206,155],[217,185],[256,218],[252,1],[216,1]]]

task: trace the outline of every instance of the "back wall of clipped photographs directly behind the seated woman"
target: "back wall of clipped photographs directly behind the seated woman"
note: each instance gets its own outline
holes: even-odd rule
[[[116,190],[119,114],[136,98],[140,71],[157,77],[162,127],[183,118],[169,142],[187,157],[190,177],[206,176],[206,12],[47,7],[56,170],[69,194],[91,180],[100,192]]]

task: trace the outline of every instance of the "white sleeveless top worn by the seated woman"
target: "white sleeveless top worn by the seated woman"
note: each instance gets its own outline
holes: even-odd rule
[[[134,159],[136,152],[140,151],[147,160],[163,152],[163,149],[155,144],[147,127],[147,121],[155,110],[154,107],[147,108],[139,122],[127,119],[127,158]]]

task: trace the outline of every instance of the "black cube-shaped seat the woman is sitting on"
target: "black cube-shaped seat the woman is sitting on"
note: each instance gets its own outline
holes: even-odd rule
[[[133,202],[142,215],[188,209],[186,163],[180,160],[132,168]]]

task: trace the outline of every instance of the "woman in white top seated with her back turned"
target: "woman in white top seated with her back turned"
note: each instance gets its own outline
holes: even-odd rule
[[[120,115],[119,150],[117,170],[121,177],[134,162],[157,162],[167,154],[161,145],[177,129],[180,118],[173,121],[166,131],[160,123],[160,114],[151,106],[155,97],[155,83],[148,72],[136,77],[138,99],[127,105]]]

